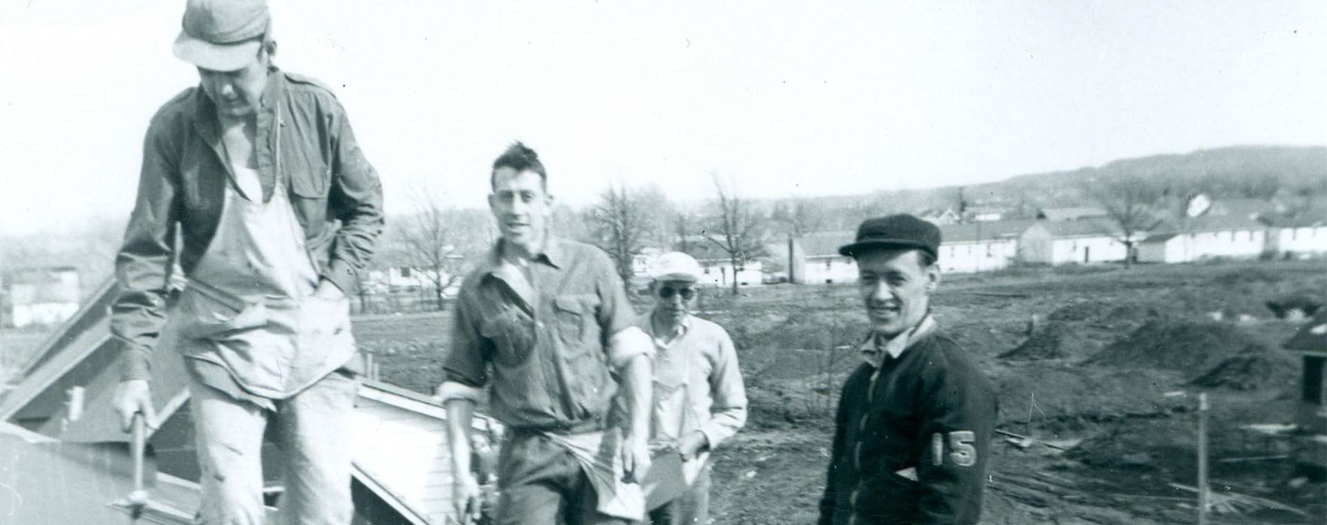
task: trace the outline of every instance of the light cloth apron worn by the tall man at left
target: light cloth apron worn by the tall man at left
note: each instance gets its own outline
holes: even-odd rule
[[[256,170],[231,168],[216,233],[173,321],[187,358],[222,366],[249,394],[284,399],[354,357],[350,301],[313,296],[318,273],[281,170],[263,203]]]

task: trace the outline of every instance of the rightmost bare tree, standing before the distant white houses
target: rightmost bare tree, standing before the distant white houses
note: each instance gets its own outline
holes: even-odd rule
[[[1135,176],[1097,178],[1084,188],[1115,225],[1124,244],[1124,268],[1129,268],[1135,257],[1136,236],[1161,224],[1157,219],[1157,205],[1164,190],[1149,180]]]

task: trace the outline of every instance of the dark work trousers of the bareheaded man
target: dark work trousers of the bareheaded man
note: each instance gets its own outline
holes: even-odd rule
[[[594,509],[598,496],[576,456],[539,434],[514,434],[498,460],[499,525],[628,525]]]

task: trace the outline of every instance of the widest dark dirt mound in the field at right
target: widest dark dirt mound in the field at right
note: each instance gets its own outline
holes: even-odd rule
[[[1217,322],[1148,321],[1087,359],[1088,365],[1208,370],[1214,363],[1262,345],[1239,329]]]

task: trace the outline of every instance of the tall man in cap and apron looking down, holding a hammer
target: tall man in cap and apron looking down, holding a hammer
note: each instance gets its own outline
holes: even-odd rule
[[[149,355],[175,334],[191,380],[199,522],[263,521],[271,424],[285,522],[349,524],[357,359],[346,293],[382,231],[378,175],[336,97],[272,65],[265,1],[190,0],[182,25],[174,53],[200,82],[147,127],[115,260],[115,411],[125,427],[135,415],[155,426]],[[187,284],[167,308],[175,262]]]

